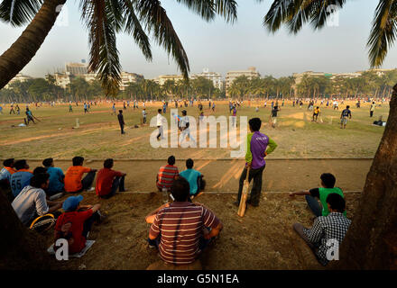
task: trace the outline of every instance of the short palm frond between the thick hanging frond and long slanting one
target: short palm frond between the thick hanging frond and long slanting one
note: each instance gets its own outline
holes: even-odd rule
[[[134,5],[132,1],[124,1],[125,9],[125,32],[132,35],[135,42],[143,52],[143,56],[152,60],[152,49],[149,41],[149,37],[143,31],[143,27],[135,14]]]

